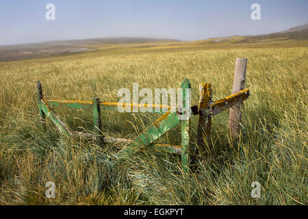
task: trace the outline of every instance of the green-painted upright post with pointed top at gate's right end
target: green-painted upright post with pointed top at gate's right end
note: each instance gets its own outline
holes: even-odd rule
[[[191,88],[190,87],[190,81],[188,79],[185,79],[181,83],[182,88],[182,114],[186,114],[188,116],[183,116],[181,118],[181,164],[184,172],[188,172],[189,164],[190,164],[190,113],[187,112],[187,110],[190,110],[190,106],[186,105],[186,101],[190,96],[187,95],[186,89]],[[188,100],[190,103],[190,100]],[[189,109],[188,109],[189,108]],[[184,112],[185,110],[185,112]]]

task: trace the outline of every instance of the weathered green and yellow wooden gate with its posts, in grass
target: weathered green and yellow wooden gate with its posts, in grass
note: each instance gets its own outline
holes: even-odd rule
[[[246,78],[246,59],[237,59],[235,66],[235,77],[233,82],[233,94],[227,96],[219,101],[211,101],[211,84],[201,83],[199,85],[199,103],[198,106],[192,107],[192,114],[197,114],[198,118],[198,135],[197,144],[199,148],[211,145],[210,131],[211,131],[211,117],[219,114],[224,110],[231,108],[229,116],[229,129],[233,136],[238,135],[238,124],[240,122],[240,109],[242,101],[248,98],[249,90],[244,90],[244,83]],[[190,88],[190,81],[185,79],[181,83],[183,90],[182,103],[185,108],[185,89]],[[171,106],[166,105],[145,105],[145,104],[133,104],[133,103],[115,103],[115,102],[101,102],[99,98],[94,98],[92,101],[73,101],[73,100],[58,100],[58,99],[43,99],[42,85],[40,81],[36,82],[36,92],[38,96],[38,109],[40,112],[40,119],[42,121],[43,129],[45,127],[46,116],[50,118],[55,126],[66,136],[85,136],[94,138],[97,144],[102,142],[127,142],[129,145],[127,149],[131,150],[136,146],[153,146],[155,149],[168,151],[170,153],[177,153],[181,155],[181,165],[184,172],[188,172],[189,164],[191,162],[191,154],[193,145],[190,143],[190,118],[179,119],[179,115],[184,112],[176,111]],[[101,132],[101,110],[114,110],[118,111],[118,105],[122,107],[138,107],[138,108],[149,108],[153,107],[153,112],[159,112],[163,114],[149,127],[144,129],[137,138],[133,140],[115,138],[112,136],[104,136]],[[59,116],[51,110],[50,106],[62,106],[71,107],[75,109],[89,109],[93,110],[94,118],[94,131],[92,133],[84,133],[77,131],[70,131],[66,124],[64,124]],[[168,112],[164,112],[164,108],[168,109]],[[190,114],[190,115],[192,115]],[[181,124],[181,145],[170,145],[170,144],[155,144],[155,140],[164,135],[167,131],[175,127],[177,124]],[[125,150],[125,153],[127,150]]]

